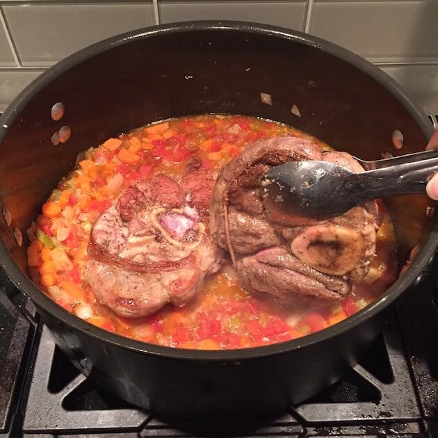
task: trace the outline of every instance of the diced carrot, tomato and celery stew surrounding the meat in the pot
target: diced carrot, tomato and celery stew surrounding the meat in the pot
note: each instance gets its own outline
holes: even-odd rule
[[[83,277],[90,229],[122,190],[158,174],[177,179],[190,166],[218,171],[249,143],[287,133],[311,138],[330,149],[282,124],[241,115],[202,115],[135,129],[86,150],[29,229],[27,254],[33,281],[58,305],[97,327],[177,348],[262,346],[343,321],[366,307],[394,277],[394,233],[387,213],[368,276],[353,284],[352,293],[332,308],[289,307],[248,295],[230,263],[225,263],[206,279],[204,289],[188,305],[168,305],[147,317],[124,318],[99,304]]]

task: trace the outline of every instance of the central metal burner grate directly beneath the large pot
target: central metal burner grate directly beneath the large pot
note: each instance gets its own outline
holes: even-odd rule
[[[373,357],[378,363],[373,362]],[[51,364],[48,367],[47,364]],[[60,368],[69,376],[54,387]],[[55,376],[55,377],[54,377]],[[375,341],[362,363],[322,394],[281,418],[254,422],[166,423],[98,389],[65,359],[46,327],[33,369],[23,431],[26,437],[81,433],[117,436],[303,436],[420,433],[421,412],[396,324]],[[330,426],[327,426],[330,425]],[[126,435],[120,435],[124,432]]]

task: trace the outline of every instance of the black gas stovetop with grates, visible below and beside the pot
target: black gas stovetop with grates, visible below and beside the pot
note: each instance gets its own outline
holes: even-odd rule
[[[107,394],[68,362],[1,270],[0,285],[0,437],[438,436],[432,279],[416,287],[343,380],[279,418],[240,423],[167,423]]]

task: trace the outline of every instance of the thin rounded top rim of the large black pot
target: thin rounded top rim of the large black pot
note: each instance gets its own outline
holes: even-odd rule
[[[0,117],[0,144],[8,132],[8,127],[13,124],[15,118],[19,116],[22,109],[31,101],[33,96],[71,67],[74,67],[84,60],[92,58],[93,56],[96,56],[104,51],[111,50],[113,47],[118,47],[122,44],[129,44],[131,41],[136,41],[143,38],[154,38],[162,33],[186,33],[198,31],[230,31],[262,34],[273,38],[293,40],[294,42],[325,51],[326,53],[336,56],[336,58],[340,58],[341,60],[346,61],[346,63],[357,67],[357,69],[368,74],[368,76],[371,76],[375,81],[380,83],[380,85],[384,86],[384,88],[389,90],[389,92],[391,92],[391,94],[398,99],[398,102],[400,102],[400,104],[402,104],[407,112],[413,117],[414,121],[416,124],[418,124],[419,128],[423,132],[425,138],[430,138],[432,134],[432,124],[430,124],[423,110],[417,104],[412,102],[411,99],[409,99],[406,93],[400,88],[400,86],[398,86],[396,81],[391,79],[390,76],[382,72],[382,70],[380,70],[378,67],[369,63],[364,58],[352,53],[351,51],[348,51],[343,47],[339,47],[332,42],[322,40],[321,38],[316,38],[299,31],[292,31],[277,26],[251,22],[211,20],[163,24],[160,26],[152,26],[146,29],[138,29],[136,31],[115,35],[111,38],[107,38],[106,40],[102,40],[85,47],[84,49],[76,51],[76,53],[56,63],[46,72],[38,76],[38,78],[31,82],[29,86],[27,86],[14,99],[8,108],[6,108],[6,111]],[[438,215],[435,213],[428,237],[425,239],[418,254],[416,254],[411,266],[409,266],[402,277],[398,278],[396,282],[394,282],[394,284],[387,289],[387,291],[380,295],[380,297],[370,305],[356,314],[346,318],[346,320],[341,321],[341,323],[327,327],[319,332],[303,336],[302,338],[276,343],[269,346],[243,348],[238,350],[184,350],[180,348],[165,347],[152,343],[136,341],[112,332],[107,332],[106,330],[83,321],[78,316],[74,316],[74,314],[70,314],[62,307],[56,305],[54,301],[47,298],[47,296],[44,295],[40,289],[33,284],[33,282],[31,282],[26,273],[19,268],[17,263],[15,263],[3,241],[0,241],[0,261],[3,270],[5,270],[6,274],[15,284],[15,286],[28,295],[39,309],[47,312],[57,321],[64,323],[67,327],[79,330],[79,332],[85,334],[86,336],[91,336],[98,341],[110,343],[112,346],[117,348],[130,350],[131,352],[137,352],[140,354],[163,357],[166,359],[226,362],[256,359],[271,355],[278,355],[284,352],[291,352],[300,348],[307,348],[315,343],[320,343],[326,339],[331,339],[334,336],[339,336],[354,329],[363,321],[366,321],[368,318],[372,318],[380,313],[380,311],[388,307],[403,292],[405,292],[409,286],[415,284],[417,279],[419,279],[421,270],[423,270],[423,268],[425,268],[425,266],[431,261],[437,245]]]

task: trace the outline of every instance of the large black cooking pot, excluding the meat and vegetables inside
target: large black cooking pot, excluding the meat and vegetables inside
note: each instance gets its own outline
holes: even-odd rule
[[[272,105],[261,102],[261,93],[271,96]],[[65,115],[54,121],[51,108],[57,102]],[[291,112],[294,105],[300,117]],[[425,195],[387,201],[400,266],[414,246],[420,244],[420,250],[386,293],[333,327],[273,346],[195,351],[125,339],[67,313],[26,276],[26,229],[78,152],[149,122],[202,113],[291,124],[362,159],[420,151],[432,133],[427,117],[389,76],[309,35],[241,22],[126,33],[51,67],[1,117],[0,201],[6,213],[1,265],[35,302],[73,364],[134,405],[171,416],[279,412],[354,365],[418,280],[438,236]],[[51,137],[65,125],[70,139],[52,145]],[[391,142],[396,129],[404,137],[401,150]]]

